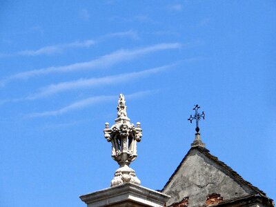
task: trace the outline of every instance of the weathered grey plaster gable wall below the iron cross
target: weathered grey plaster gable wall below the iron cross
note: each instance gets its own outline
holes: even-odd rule
[[[206,197],[213,193],[218,193],[227,200],[249,195],[254,191],[239,183],[224,168],[194,148],[162,193],[171,197],[167,206],[189,197],[188,206],[192,207],[204,206]]]

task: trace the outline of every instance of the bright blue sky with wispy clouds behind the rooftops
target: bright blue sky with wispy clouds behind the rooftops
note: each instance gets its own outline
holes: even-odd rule
[[[117,163],[103,137],[123,92],[141,184],[193,142],[276,199],[275,1],[1,1],[0,206],[85,206]]]

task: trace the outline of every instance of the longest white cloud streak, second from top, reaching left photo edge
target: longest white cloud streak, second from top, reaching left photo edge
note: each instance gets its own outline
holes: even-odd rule
[[[160,50],[169,50],[177,48],[181,48],[181,43],[160,43],[157,45],[139,48],[135,50],[117,50],[108,55],[103,55],[97,59],[92,59],[91,61],[73,63],[67,66],[52,66],[49,68],[41,68],[37,70],[19,72],[15,75],[7,77],[6,79],[3,79],[2,81],[0,81],[0,83],[3,86],[12,80],[30,79],[31,77],[39,77],[41,75],[48,75],[51,73],[64,73],[79,70],[92,70],[95,68],[105,68],[115,65],[116,63],[129,61],[130,59],[135,59],[141,55],[146,55],[150,52],[157,52]]]

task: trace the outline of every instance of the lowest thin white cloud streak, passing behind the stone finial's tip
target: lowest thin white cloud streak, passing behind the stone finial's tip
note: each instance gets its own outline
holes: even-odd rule
[[[150,95],[152,92],[156,92],[157,90],[144,90],[132,93],[130,95],[126,95],[128,99],[134,99],[134,98],[140,98],[144,97],[146,95]],[[26,117],[50,117],[50,116],[57,116],[57,115],[63,115],[66,112],[70,112],[71,110],[78,110],[81,108],[85,108],[88,106],[92,106],[96,103],[100,102],[106,102],[106,101],[112,101],[117,99],[117,95],[101,95],[96,97],[89,97],[87,99],[82,99],[80,101],[76,101],[74,103],[70,103],[68,106],[65,106],[63,108],[60,108],[58,110],[49,110],[45,112],[34,112]]]

